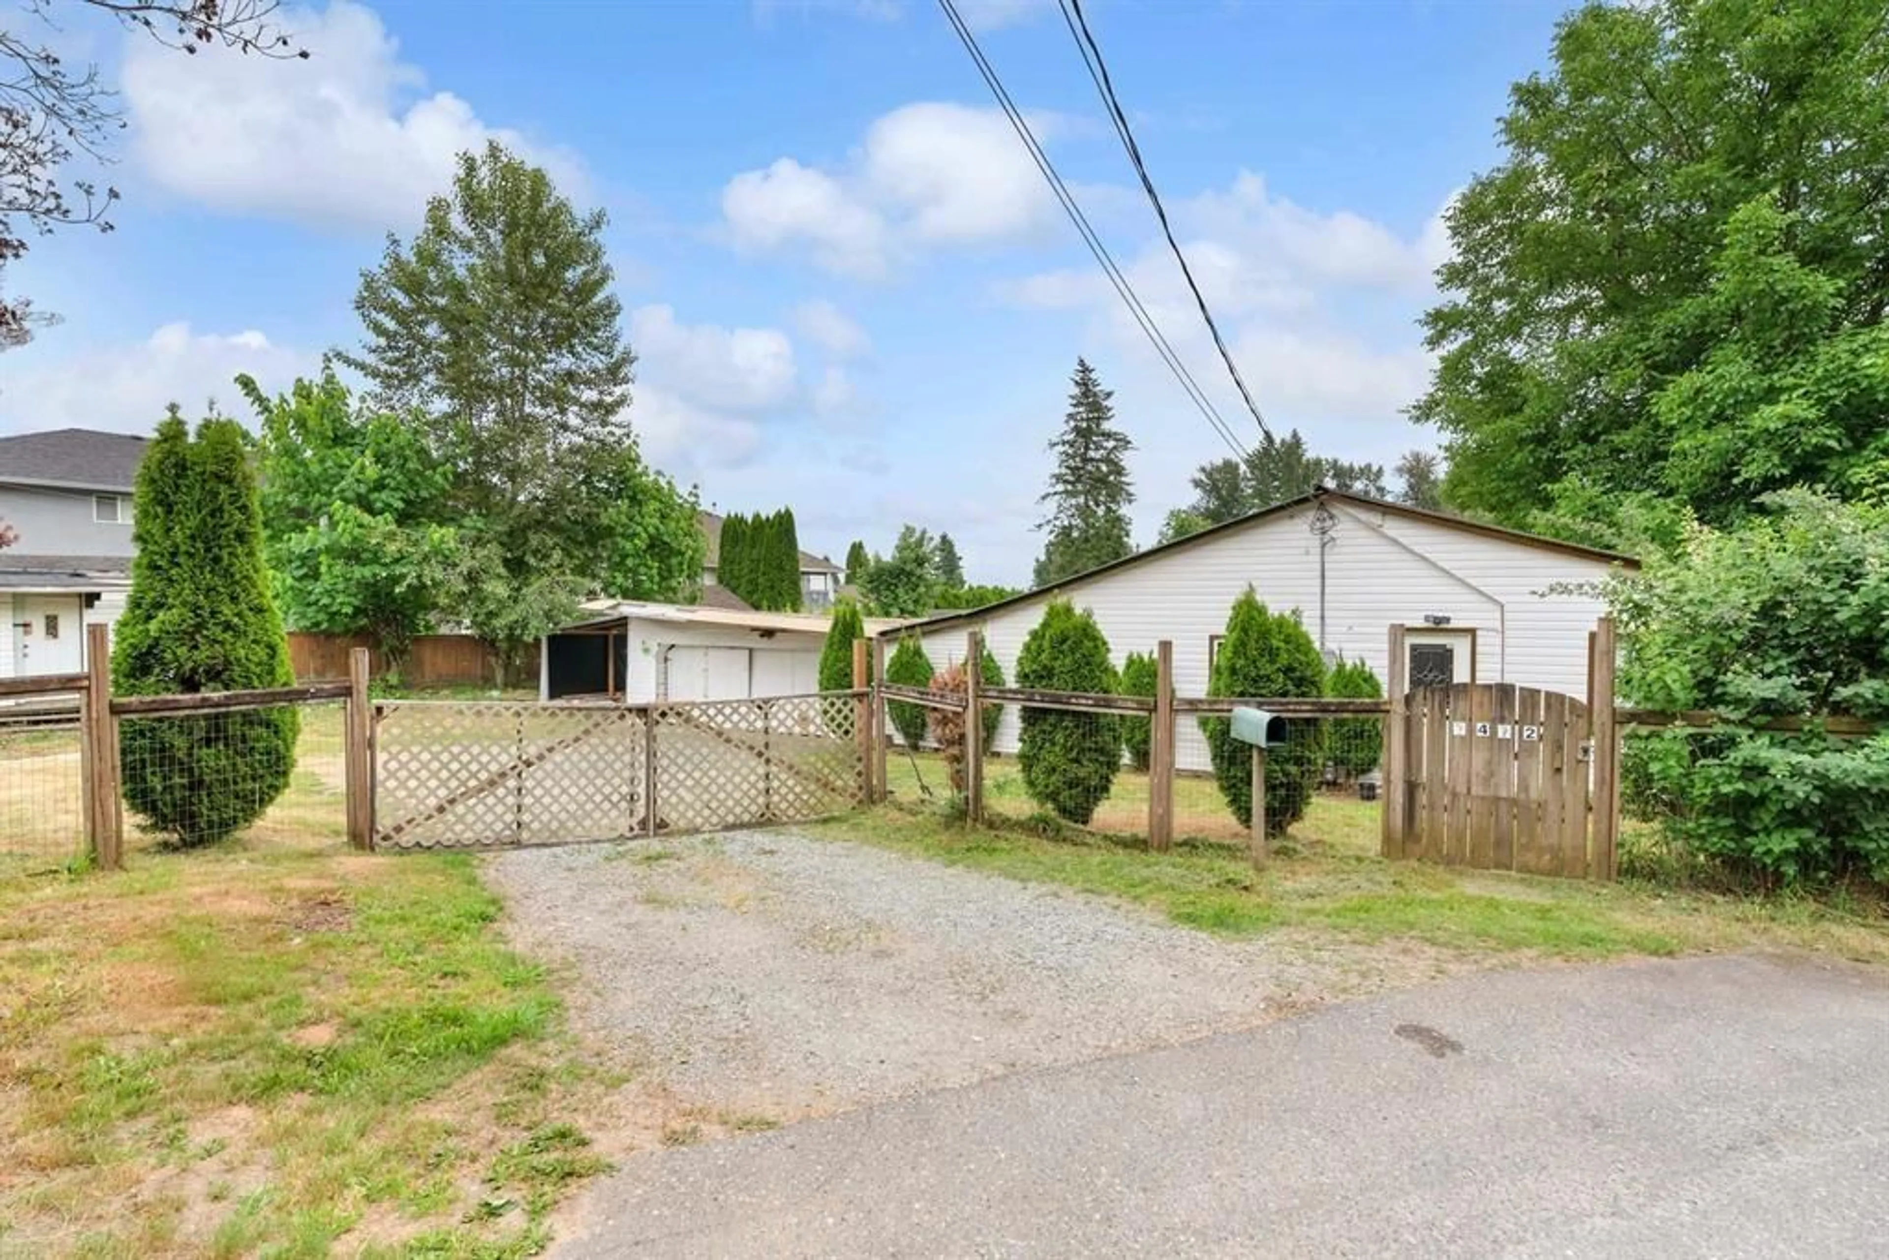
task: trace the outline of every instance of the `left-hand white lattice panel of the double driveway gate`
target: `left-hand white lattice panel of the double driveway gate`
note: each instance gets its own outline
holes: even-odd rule
[[[484,848],[646,829],[644,712],[599,705],[383,701],[374,843]]]

